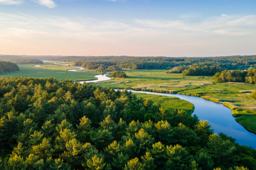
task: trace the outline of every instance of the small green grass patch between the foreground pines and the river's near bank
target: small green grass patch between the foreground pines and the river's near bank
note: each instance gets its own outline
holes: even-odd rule
[[[154,103],[160,104],[164,108],[168,108],[170,111],[175,109],[186,111],[187,113],[193,113],[194,105],[186,100],[181,100],[177,97],[159,96],[154,94],[141,94],[134,93],[138,98],[150,99]]]

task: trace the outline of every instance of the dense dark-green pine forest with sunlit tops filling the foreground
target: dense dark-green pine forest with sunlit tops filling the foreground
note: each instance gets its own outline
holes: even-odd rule
[[[0,117],[1,170],[256,169],[207,121],[94,84],[0,77]]]

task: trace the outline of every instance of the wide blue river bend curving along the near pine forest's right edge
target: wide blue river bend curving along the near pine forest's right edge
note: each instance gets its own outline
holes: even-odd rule
[[[146,91],[131,91],[132,93],[156,94],[161,96],[175,96],[186,100],[195,106],[192,114],[199,117],[200,120],[207,120],[214,129],[214,133],[223,132],[227,136],[236,139],[241,145],[251,146],[256,149],[256,134],[249,132],[242,125],[236,122],[232,116],[232,111],[222,104],[212,102],[207,99],[195,96],[186,96],[182,94],[163,94]]]

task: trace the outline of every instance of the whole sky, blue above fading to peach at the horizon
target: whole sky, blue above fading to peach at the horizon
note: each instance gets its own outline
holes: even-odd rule
[[[256,55],[256,0],[0,0],[0,54]]]

